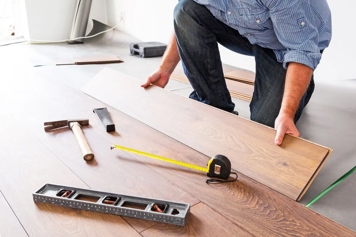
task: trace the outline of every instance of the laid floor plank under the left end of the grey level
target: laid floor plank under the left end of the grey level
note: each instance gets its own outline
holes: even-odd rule
[[[29,236],[139,236],[120,216],[35,203],[44,183],[89,187],[15,118],[0,121],[0,190]]]

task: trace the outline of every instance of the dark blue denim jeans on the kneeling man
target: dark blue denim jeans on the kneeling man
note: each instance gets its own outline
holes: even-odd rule
[[[239,31],[217,20],[204,6],[181,0],[174,9],[174,31],[185,75],[194,91],[189,98],[227,112],[234,111],[221,65],[218,43],[244,55],[255,56],[255,90],[250,103],[251,120],[274,127],[281,109],[287,70],[272,49],[251,44]],[[297,112],[302,114],[314,91],[313,77]]]

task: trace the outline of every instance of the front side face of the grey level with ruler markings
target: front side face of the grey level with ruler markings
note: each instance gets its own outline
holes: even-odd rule
[[[38,203],[46,203],[46,204],[52,204],[56,206],[64,206],[68,208],[96,211],[96,212],[108,213],[108,214],[119,215],[119,216],[128,216],[128,217],[134,217],[143,220],[170,223],[174,225],[184,225],[184,218],[182,217],[164,215],[164,214],[159,214],[159,213],[154,213],[149,211],[124,208],[119,206],[109,206],[109,205],[102,205],[98,203],[87,203],[75,199],[57,198],[57,197],[50,197],[45,195],[33,195],[33,200]]]

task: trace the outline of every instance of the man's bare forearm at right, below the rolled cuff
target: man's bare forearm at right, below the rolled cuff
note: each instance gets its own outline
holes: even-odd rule
[[[286,84],[279,114],[294,118],[300,100],[308,88],[313,69],[304,64],[290,62],[288,64]]]

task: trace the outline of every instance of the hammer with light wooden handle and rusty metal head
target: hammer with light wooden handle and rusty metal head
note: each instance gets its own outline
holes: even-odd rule
[[[87,139],[85,139],[81,126],[89,125],[89,119],[72,119],[61,120],[54,122],[46,122],[45,131],[49,131],[56,128],[63,128],[68,126],[72,129],[75,139],[77,139],[80,150],[82,151],[85,161],[91,161],[94,159],[93,151],[91,151]]]

